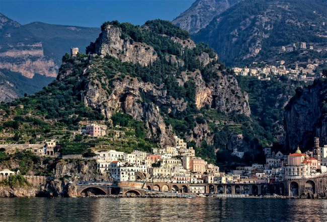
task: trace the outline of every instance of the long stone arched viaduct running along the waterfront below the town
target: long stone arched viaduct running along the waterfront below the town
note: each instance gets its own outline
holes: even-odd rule
[[[315,195],[327,194],[327,177],[311,179],[284,180],[273,184],[228,183],[228,184],[182,184],[182,183],[147,183],[147,182],[94,182],[76,183],[77,196],[88,191],[96,194],[144,195],[148,192],[192,193],[190,187],[202,186],[209,194],[279,194],[283,196],[302,196],[313,198]]]

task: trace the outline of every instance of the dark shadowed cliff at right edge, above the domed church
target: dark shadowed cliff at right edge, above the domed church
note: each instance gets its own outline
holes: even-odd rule
[[[327,144],[327,82],[315,81],[312,86],[298,92],[285,107],[286,146],[303,151],[313,146],[313,138],[320,138],[320,145]]]

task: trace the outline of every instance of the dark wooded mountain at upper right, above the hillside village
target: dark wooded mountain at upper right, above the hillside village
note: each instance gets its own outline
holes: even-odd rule
[[[216,16],[193,39],[209,44],[227,64],[323,58],[327,48],[326,12],[326,0],[241,1]],[[292,47],[293,43],[299,49],[300,42],[314,50],[279,53],[282,46]]]

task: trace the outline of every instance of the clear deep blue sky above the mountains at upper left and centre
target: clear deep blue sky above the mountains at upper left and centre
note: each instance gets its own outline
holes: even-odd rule
[[[0,12],[22,25],[44,22],[100,27],[105,21],[112,20],[142,25],[152,19],[171,21],[194,2],[195,0],[0,0]]]

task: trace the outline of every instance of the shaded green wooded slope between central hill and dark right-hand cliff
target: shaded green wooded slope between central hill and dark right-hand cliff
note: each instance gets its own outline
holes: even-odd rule
[[[241,90],[249,94],[253,118],[253,122],[247,123],[249,127],[243,127],[243,132],[255,136],[264,146],[278,143],[277,138],[283,133],[284,106],[304,83],[284,77],[271,81],[260,81],[255,77],[237,77],[237,80]]]

